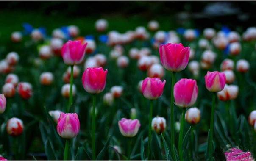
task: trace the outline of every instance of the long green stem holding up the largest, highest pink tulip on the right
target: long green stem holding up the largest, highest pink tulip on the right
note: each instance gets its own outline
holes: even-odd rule
[[[175,152],[174,152],[174,147],[175,147],[175,142],[174,142],[174,97],[173,97],[173,87],[175,84],[175,75],[176,72],[172,72],[172,89],[171,89],[171,152],[172,152],[172,158],[173,160],[175,159]]]

